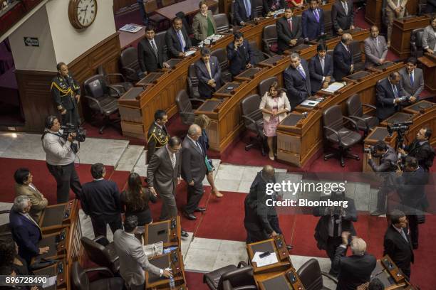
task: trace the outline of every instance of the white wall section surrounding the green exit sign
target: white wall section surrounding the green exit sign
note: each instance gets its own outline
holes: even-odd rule
[[[24,37],[38,38],[39,47],[24,45]],[[17,70],[56,71],[55,50],[45,6],[11,33],[9,42]]]

